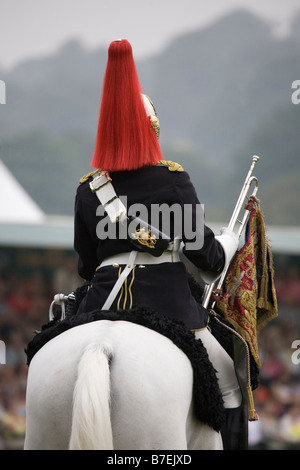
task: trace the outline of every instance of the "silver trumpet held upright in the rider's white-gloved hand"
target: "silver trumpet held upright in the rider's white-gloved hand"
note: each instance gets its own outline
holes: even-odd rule
[[[245,207],[245,201],[246,200],[249,201],[251,198],[254,198],[256,193],[257,193],[257,190],[258,190],[258,179],[255,176],[252,176],[253,169],[255,167],[255,164],[258,162],[258,160],[259,160],[259,157],[257,155],[253,155],[252,164],[250,166],[250,169],[248,171],[248,174],[247,174],[246,179],[245,179],[244,184],[243,184],[243,188],[240,192],[239,198],[237,200],[236,206],[234,208],[234,211],[232,213],[231,219],[230,219],[229,224],[228,224],[228,228],[230,230],[232,230],[233,232],[236,231],[236,235],[237,235],[238,239],[240,239],[240,237],[241,237],[241,234],[242,234],[242,232],[243,232],[243,230],[246,226],[247,220],[249,218],[250,211],[252,210],[251,205],[250,205],[250,207],[247,207],[247,205]],[[253,188],[252,194],[251,194],[251,196],[248,196],[247,193],[248,193],[250,187],[253,186],[253,185],[254,185],[254,188]],[[243,208],[244,208],[244,214],[243,214],[242,219],[240,219],[240,212]],[[224,279],[225,279],[227,271],[228,271],[228,267],[229,267],[229,265],[224,267],[222,275],[218,280],[218,284],[216,286],[217,291],[220,291],[220,289],[222,288]],[[208,304],[211,300],[211,296],[212,296],[213,291],[214,291],[214,287],[215,287],[214,283],[206,284],[205,287],[204,287],[204,292],[203,292],[203,297],[202,297],[202,305],[205,308],[208,307]],[[212,309],[214,308],[214,305],[215,305],[215,301],[213,301],[213,303],[211,305]]]

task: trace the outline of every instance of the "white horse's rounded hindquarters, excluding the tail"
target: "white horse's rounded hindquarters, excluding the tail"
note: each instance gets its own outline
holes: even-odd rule
[[[152,330],[107,320],[62,333],[32,359],[25,448],[68,448],[78,364],[91,343],[111,350],[114,448],[186,448],[193,382],[188,358]]]

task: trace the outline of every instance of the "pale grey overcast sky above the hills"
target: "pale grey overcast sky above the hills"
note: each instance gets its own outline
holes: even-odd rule
[[[247,9],[283,33],[300,14],[299,0],[0,0],[0,67],[55,52],[70,39],[87,48],[107,48],[128,39],[136,58],[160,52],[170,42]]]

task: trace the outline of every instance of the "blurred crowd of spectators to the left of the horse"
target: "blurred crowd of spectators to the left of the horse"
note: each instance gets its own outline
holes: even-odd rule
[[[11,268],[14,263],[1,266],[0,261],[0,340],[5,345],[0,364],[0,450],[23,448],[28,373],[24,349],[48,322],[54,294],[69,294],[82,284],[74,255],[66,252],[60,262],[58,268],[42,266],[20,273]]]

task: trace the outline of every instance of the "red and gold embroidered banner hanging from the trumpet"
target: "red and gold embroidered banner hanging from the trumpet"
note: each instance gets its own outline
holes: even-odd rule
[[[244,246],[231,262],[223,284],[223,296],[217,306],[247,341],[260,368],[258,333],[277,317],[278,309],[273,257],[258,203],[250,213]]]

